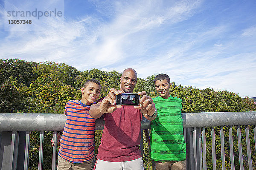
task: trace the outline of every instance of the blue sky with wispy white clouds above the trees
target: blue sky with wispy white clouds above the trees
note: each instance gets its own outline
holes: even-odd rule
[[[165,73],[176,85],[256,97],[255,0],[43,2],[0,0],[0,59],[134,68],[143,79]],[[15,13],[35,8],[61,15]]]

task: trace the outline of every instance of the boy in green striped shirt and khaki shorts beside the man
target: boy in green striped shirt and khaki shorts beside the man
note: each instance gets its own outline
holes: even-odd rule
[[[157,117],[151,121],[149,156],[155,170],[186,170],[186,143],[182,126],[182,100],[170,96],[172,86],[166,74],[155,79]]]

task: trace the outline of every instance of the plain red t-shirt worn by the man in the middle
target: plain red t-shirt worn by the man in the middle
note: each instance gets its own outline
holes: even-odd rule
[[[105,126],[97,159],[120,162],[140,158],[140,110],[133,106],[122,106],[113,113],[104,113],[103,116]]]

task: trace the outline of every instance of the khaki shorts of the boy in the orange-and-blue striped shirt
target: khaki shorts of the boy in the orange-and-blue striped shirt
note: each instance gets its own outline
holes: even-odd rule
[[[92,170],[93,160],[89,160],[83,163],[72,163],[66,159],[61,158],[58,155],[58,166],[57,170]]]

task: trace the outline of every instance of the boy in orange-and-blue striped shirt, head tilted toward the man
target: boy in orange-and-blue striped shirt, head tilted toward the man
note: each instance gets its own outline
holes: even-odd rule
[[[90,79],[81,88],[81,101],[70,100],[66,103],[64,131],[62,136],[57,133],[57,143],[60,144],[57,170],[92,170],[96,119],[89,115],[89,110],[99,98],[100,90],[100,83]],[[52,146],[54,143],[52,138]]]

